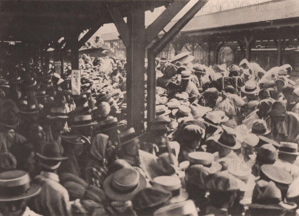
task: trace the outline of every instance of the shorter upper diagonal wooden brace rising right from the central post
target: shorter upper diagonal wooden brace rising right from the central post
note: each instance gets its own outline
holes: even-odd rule
[[[173,17],[190,0],[173,1],[166,9],[146,28],[146,41],[151,42]]]

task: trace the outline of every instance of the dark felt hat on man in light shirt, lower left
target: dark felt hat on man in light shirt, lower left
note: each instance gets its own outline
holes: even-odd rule
[[[40,153],[36,153],[36,156],[43,161],[64,161],[68,157],[61,155],[61,148],[57,142],[45,142],[41,146]]]

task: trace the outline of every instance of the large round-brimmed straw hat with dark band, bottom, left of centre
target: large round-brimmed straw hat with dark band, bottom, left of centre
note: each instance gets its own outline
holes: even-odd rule
[[[121,169],[104,180],[103,189],[110,200],[128,201],[145,189],[146,185],[146,179],[138,171]]]

